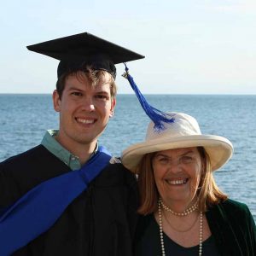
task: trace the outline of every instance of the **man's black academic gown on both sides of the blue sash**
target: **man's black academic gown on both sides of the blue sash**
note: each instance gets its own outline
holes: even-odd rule
[[[0,209],[39,183],[70,171],[42,145],[3,161]],[[121,164],[109,164],[48,231],[13,255],[131,256],[136,210],[135,177]]]

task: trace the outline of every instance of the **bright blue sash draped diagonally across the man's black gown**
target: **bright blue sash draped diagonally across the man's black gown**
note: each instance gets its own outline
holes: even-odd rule
[[[0,255],[7,256],[44,233],[102,169],[111,154],[99,147],[79,170],[53,177],[28,191],[0,216]]]

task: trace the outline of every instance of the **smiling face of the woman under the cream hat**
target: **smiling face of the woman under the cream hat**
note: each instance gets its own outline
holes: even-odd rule
[[[157,152],[152,160],[154,181],[169,206],[188,207],[200,183],[202,160],[197,148],[176,148]]]

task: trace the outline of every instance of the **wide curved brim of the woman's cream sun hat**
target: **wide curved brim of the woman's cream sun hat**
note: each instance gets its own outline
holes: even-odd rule
[[[122,153],[123,165],[136,172],[136,167],[142,160],[144,154],[163,151],[174,148],[203,147],[210,157],[212,171],[219,169],[230,160],[233,154],[233,146],[224,137],[214,135],[190,135],[172,137],[169,139],[152,139],[144,143],[137,143],[126,148]]]

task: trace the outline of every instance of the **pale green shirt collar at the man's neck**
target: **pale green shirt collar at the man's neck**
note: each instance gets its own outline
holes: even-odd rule
[[[78,170],[81,168],[79,157],[70,153],[66,148],[63,148],[60,143],[55,140],[55,136],[58,134],[58,130],[48,130],[45,132],[44,138],[41,144],[44,148],[47,148],[50,153],[54,154],[55,157],[60,159],[63,163],[71,168],[71,170]],[[96,148],[90,157],[96,154],[98,150],[98,143]]]

